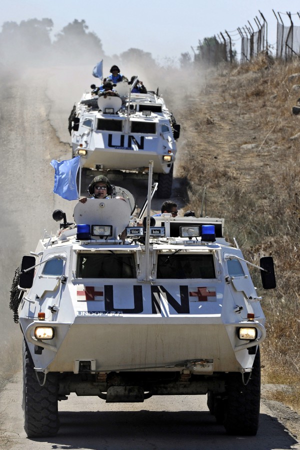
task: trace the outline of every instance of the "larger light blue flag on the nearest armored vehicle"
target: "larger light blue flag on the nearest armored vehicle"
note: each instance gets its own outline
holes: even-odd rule
[[[50,162],[55,169],[53,192],[66,200],[76,200],[78,198],[76,175],[79,163],[80,156],[60,162],[52,159]]]

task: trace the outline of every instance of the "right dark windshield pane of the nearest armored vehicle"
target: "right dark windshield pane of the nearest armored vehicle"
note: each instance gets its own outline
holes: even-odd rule
[[[157,278],[215,278],[212,254],[159,254]]]

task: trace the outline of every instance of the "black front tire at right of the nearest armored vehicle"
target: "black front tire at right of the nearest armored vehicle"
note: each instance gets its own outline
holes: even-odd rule
[[[256,351],[249,382],[244,385],[240,373],[230,373],[225,388],[223,424],[227,433],[255,436],[258,429],[260,407],[259,348]]]

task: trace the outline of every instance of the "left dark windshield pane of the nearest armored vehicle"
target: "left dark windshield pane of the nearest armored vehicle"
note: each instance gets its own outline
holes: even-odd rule
[[[78,254],[77,278],[136,278],[134,255],[112,252]]]

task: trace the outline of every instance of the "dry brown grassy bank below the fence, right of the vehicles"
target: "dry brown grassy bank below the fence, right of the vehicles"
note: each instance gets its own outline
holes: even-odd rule
[[[182,113],[185,165],[177,173],[186,175],[188,160],[186,210],[200,211],[206,187],[207,215],[225,218],[229,240],[236,237],[245,257],[274,257],[277,287],[258,289],[267,318],[263,382],[289,384],[270,395],[300,412],[300,137],[290,139],[300,131],[300,116],[291,114],[300,76],[289,78],[297,72],[298,59],[265,55],[222,66],[199,91],[192,116]]]

